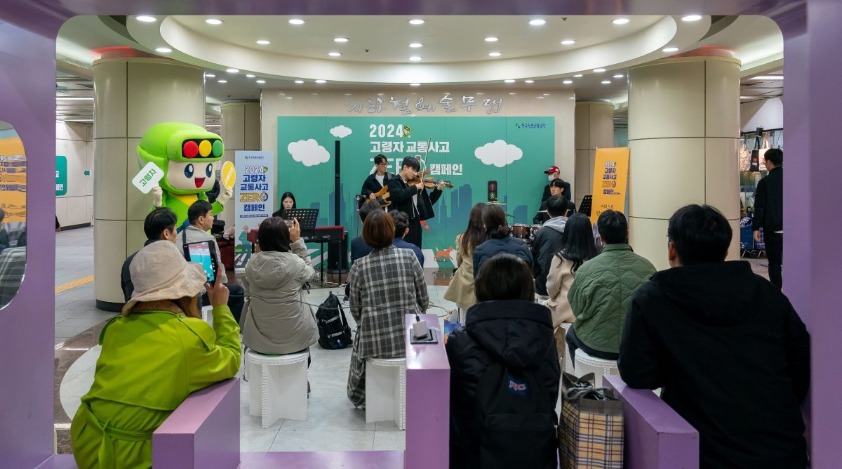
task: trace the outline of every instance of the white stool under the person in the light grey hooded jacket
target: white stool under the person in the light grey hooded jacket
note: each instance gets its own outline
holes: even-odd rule
[[[259,415],[262,428],[268,429],[279,418],[307,419],[309,356],[309,351],[264,355],[248,350],[248,414]]]

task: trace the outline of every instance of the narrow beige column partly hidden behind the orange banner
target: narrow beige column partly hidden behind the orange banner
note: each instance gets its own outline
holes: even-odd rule
[[[575,122],[576,176],[573,195],[578,207],[585,195],[594,194],[596,149],[614,147],[614,104],[578,101]]]

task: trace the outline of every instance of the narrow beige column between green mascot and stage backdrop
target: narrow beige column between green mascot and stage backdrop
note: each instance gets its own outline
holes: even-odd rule
[[[221,137],[225,142],[225,154],[222,161],[234,162],[237,150],[260,149],[260,103],[257,101],[230,102],[220,106],[222,111]],[[220,165],[220,168],[222,166]],[[270,200],[275,200],[273,196]],[[234,205],[232,197],[225,204],[217,218],[225,221],[226,229],[234,226]]]

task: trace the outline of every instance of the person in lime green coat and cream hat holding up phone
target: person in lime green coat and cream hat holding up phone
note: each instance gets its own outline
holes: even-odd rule
[[[86,469],[150,467],[152,432],[190,392],[240,368],[240,328],[225,285],[205,284],[202,266],[168,241],[142,248],[129,269],[135,291],[99,335],[93,385],[70,427],[73,457]],[[202,290],[213,328],[198,307]]]

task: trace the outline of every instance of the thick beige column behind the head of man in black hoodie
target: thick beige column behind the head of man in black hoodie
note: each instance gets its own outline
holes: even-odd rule
[[[722,211],[733,229],[728,258],[739,256],[740,62],[698,53],[706,56],[629,71],[630,243],[658,269],[669,268],[669,217],[688,204]]]

